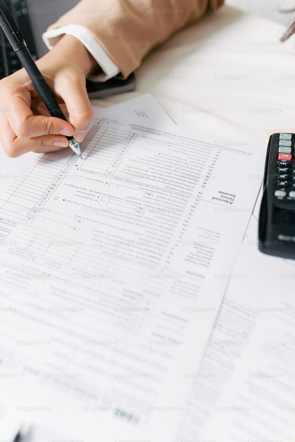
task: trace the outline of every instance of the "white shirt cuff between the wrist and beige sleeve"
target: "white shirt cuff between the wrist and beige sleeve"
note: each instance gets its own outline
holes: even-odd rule
[[[103,76],[97,76],[100,81],[106,81],[119,74],[119,68],[107,55],[106,51],[100,46],[93,35],[84,26],[80,25],[65,25],[57,29],[50,29],[42,35],[43,41],[48,47],[52,49],[54,45],[61,38],[62,34],[70,34],[78,38],[85,48],[91,53],[92,57],[100,65],[105,73]]]

